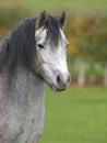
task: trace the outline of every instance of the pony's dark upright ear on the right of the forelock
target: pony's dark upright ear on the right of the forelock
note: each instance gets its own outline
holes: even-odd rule
[[[59,16],[58,16],[59,25],[61,29],[64,29],[66,25],[66,12],[63,11]]]

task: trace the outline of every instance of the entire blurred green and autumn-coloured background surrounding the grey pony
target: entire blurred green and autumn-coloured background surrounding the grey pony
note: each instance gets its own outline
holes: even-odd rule
[[[47,89],[40,143],[107,143],[107,0],[0,0],[0,38],[44,10],[67,12],[72,85]]]

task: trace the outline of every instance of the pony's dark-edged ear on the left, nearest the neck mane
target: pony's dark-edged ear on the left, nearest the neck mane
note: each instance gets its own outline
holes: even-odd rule
[[[46,12],[43,11],[38,18],[37,18],[37,21],[36,21],[36,29],[40,29],[46,22]]]

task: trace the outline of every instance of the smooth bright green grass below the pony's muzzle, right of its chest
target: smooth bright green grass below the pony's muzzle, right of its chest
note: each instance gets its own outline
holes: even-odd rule
[[[40,143],[107,143],[107,89],[47,90],[46,128]]]

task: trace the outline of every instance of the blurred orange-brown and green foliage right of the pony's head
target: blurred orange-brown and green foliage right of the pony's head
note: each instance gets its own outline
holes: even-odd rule
[[[107,61],[106,25],[106,12],[95,13],[93,11],[69,15],[67,33],[72,45],[69,55],[84,57],[88,61]]]

